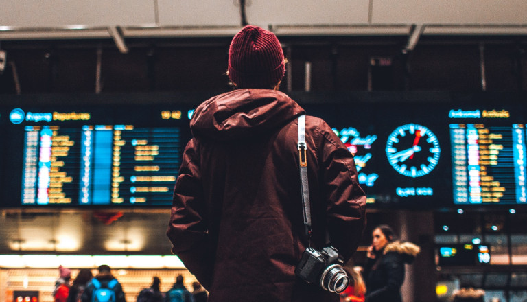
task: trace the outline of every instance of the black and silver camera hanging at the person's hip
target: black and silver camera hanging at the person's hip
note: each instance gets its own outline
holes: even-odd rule
[[[344,262],[333,246],[327,246],[322,251],[309,247],[305,249],[294,273],[307,283],[319,283],[323,289],[340,294],[349,284],[342,264]]]

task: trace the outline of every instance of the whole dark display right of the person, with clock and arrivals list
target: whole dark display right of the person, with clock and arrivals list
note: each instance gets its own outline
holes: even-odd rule
[[[316,110],[316,109],[314,109]],[[369,207],[526,204],[526,115],[511,102],[375,102],[322,111]]]

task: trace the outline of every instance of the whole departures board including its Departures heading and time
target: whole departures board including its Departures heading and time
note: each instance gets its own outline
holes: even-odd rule
[[[20,188],[19,205],[172,205],[189,139],[186,111],[145,106],[37,110],[10,111],[9,136],[17,143],[7,151],[14,171],[7,181]]]

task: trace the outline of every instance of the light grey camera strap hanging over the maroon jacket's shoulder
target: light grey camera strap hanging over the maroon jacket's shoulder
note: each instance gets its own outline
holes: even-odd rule
[[[305,115],[298,117],[298,160],[300,166],[300,187],[304,225],[309,246],[311,246],[311,205],[309,204],[309,184],[307,183],[307,144],[305,143]]]

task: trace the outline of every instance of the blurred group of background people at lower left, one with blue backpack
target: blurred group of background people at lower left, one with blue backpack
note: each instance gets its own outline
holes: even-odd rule
[[[103,264],[97,268],[97,275],[82,268],[71,282],[71,270],[59,266],[59,277],[52,292],[55,302],[126,302],[121,283],[112,275],[110,266]],[[200,283],[192,284],[193,291],[187,290],[182,275],[167,292],[161,292],[161,279],[154,276],[152,284],[143,288],[137,295],[137,302],[205,302],[207,291]]]

